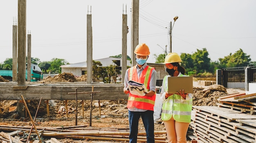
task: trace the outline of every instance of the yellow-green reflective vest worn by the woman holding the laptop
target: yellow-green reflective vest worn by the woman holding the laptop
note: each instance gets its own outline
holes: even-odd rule
[[[183,74],[181,74],[180,76],[185,76]],[[164,91],[168,90],[168,86],[166,87],[166,78],[168,76],[165,76],[163,79],[163,87],[164,87]],[[173,118],[175,119],[175,121],[179,121],[179,122],[186,122],[186,123],[190,123],[191,122],[191,111],[192,111],[192,98],[191,100],[185,100],[185,101],[181,101],[181,96],[178,94],[173,94],[171,96],[169,96],[163,103],[162,106],[162,120],[163,121],[168,121],[171,119],[171,117],[173,116]]]

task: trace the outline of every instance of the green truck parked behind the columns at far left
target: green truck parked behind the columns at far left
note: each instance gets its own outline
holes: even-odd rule
[[[0,70],[0,76],[12,81],[12,70]],[[26,80],[27,80],[27,66],[26,66]],[[43,80],[43,72],[38,65],[31,63],[31,78],[30,81]]]

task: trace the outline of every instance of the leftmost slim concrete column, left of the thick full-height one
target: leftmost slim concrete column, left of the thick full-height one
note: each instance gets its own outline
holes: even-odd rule
[[[12,26],[12,81],[17,82],[17,74],[18,74],[18,52],[17,52],[17,44],[18,44],[18,27],[16,25]]]

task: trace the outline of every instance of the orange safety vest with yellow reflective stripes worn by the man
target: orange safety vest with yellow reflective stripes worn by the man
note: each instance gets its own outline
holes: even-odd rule
[[[139,82],[139,83],[144,83],[147,90],[149,91],[149,83],[150,83],[150,78],[151,78],[153,69],[155,69],[155,68],[146,66],[146,68],[143,69],[141,75],[138,78],[136,65],[134,67],[130,67],[128,69],[129,80],[133,80],[133,81]],[[133,94],[129,93],[127,108],[135,106],[136,108],[139,108],[139,109],[154,111],[155,96],[156,95],[138,96],[138,95],[133,95]]]

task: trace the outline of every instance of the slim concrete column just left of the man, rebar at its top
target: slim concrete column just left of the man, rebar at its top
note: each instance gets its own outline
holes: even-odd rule
[[[127,14],[123,14],[122,24],[122,83],[124,83],[124,77],[127,69]]]

